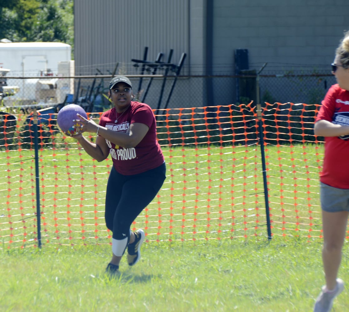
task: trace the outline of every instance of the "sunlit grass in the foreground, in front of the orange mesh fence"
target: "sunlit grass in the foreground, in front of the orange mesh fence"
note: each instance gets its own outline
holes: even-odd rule
[[[321,244],[296,238],[151,242],[122,275],[107,245],[2,251],[0,311],[312,311],[324,283]],[[339,275],[349,280],[348,248]],[[333,311],[349,306],[347,290]]]

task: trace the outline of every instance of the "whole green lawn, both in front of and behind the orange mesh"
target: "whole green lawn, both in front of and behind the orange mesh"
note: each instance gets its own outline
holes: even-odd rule
[[[0,311],[312,311],[324,284],[321,146],[267,147],[270,241],[257,146],[164,147],[168,179],[134,225],[147,228],[142,259],[122,259],[114,279],[104,274],[111,161],[74,145],[39,152],[40,250],[33,153],[0,155]],[[339,276],[349,281],[346,245]],[[348,306],[344,290],[333,311]]]

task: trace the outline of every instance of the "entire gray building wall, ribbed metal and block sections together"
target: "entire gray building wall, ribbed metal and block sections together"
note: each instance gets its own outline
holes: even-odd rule
[[[210,4],[213,12],[207,12]],[[140,74],[131,59],[142,59],[145,46],[152,61],[159,52],[167,61],[173,49],[177,63],[186,53],[181,75],[234,75],[236,49],[248,50],[250,69],[267,63],[262,74],[330,73],[334,51],[349,30],[348,0],[75,0],[74,5],[76,75],[94,75],[96,68],[109,74],[116,64],[116,73]],[[166,101],[172,82],[164,86],[154,79],[146,102],[163,107],[159,93]],[[193,106],[193,94],[195,106],[236,103],[237,85],[235,78],[178,79],[168,107]]]

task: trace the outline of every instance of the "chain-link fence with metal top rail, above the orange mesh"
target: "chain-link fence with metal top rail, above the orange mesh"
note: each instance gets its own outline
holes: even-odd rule
[[[229,104],[307,103],[320,104],[335,77],[328,70],[300,72],[274,71],[257,75],[177,76],[128,75],[135,99],[152,109],[177,109]],[[87,112],[109,109],[109,75],[73,77],[8,77],[0,85],[1,110],[18,113],[31,108],[54,107],[67,103]]]

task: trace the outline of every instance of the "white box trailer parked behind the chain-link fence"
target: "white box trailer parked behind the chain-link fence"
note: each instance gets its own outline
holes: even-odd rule
[[[43,79],[52,79],[62,76],[62,73],[58,72],[58,63],[73,62],[71,50],[69,44],[59,42],[0,43],[0,68],[9,68],[8,84],[17,85],[20,88],[20,91],[12,97],[13,100],[38,101],[36,83],[39,79],[18,80],[11,77],[43,76]],[[65,72],[64,75],[66,74]],[[67,92],[73,93],[73,90],[67,90]]]

